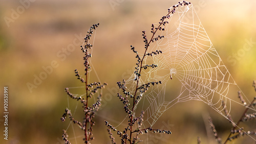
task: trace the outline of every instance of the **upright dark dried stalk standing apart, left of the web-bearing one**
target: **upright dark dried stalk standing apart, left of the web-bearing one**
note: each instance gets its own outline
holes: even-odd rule
[[[93,104],[92,106],[88,106],[88,98],[92,98],[92,96],[97,92],[98,89],[102,89],[104,88],[105,85],[107,85],[106,83],[101,84],[99,82],[94,82],[94,83],[89,83],[88,80],[88,75],[89,75],[89,69],[90,67],[90,63],[89,63],[89,58],[92,57],[92,55],[90,54],[90,50],[92,49],[92,46],[89,43],[90,38],[92,37],[93,34],[93,30],[95,30],[97,27],[99,26],[99,23],[96,25],[93,25],[89,31],[87,32],[86,37],[84,38],[84,45],[81,45],[81,50],[84,53],[84,67],[85,67],[85,79],[81,78],[79,75],[79,72],[77,69],[75,69],[75,76],[77,77],[78,80],[80,80],[82,83],[85,83],[86,85],[86,96],[85,98],[83,97],[76,97],[74,96],[74,94],[72,94],[69,91],[69,88],[65,88],[65,91],[67,92],[67,94],[70,96],[70,98],[75,99],[77,101],[80,101],[82,103],[82,107],[83,107],[83,111],[84,111],[84,118],[83,118],[83,122],[78,122],[74,119],[74,117],[72,116],[72,113],[70,112],[70,110],[67,108],[65,110],[65,113],[62,115],[62,117],[60,118],[62,122],[65,122],[65,119],[67,117],[67,115],[69,115],[69,119],[70,121],[72,121],[74,124],[78,125],[78,127],[84,131],[84,143],[90,143],[90,140],[93,140],[94,138],[92,137],[92,131],[93,131],[93,126],[95,124],[95,122],[93,121],[93,118],[95,116],[95,112],[98,111],[101,103],[101,94],[99,94],[98,98],[97,98],[97,102],[95,104]],[[68,140],[68,135],[66,133],[65,130],[63,130],[63,140],[65,140],[65,143],[70,143],[70,141]]]

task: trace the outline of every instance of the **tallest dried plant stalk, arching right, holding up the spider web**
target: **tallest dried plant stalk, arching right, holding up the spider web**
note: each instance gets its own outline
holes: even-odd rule
[[[156,36],[156,32],[157,31],[164,31],[165,29],[163,28],[165,25],[167,25],[168,21],[166,19],[170,18],[170,15],[174,14],[176,12],[176,8],[179,6],[185,6],[185,5],[189,5],[190,3],[188,2],[179,2],[179,4],[175,5],[172,7],[171,9],[168,9],[168,13],[167,15],[163,16],[160,21],[159,21],[159,25],[158,27],[155,27],[155,25],[152,24],[152,29],[151,29],[151,33],[152,36],[150,39],[147,39],[147,36],[145,34],[145,31],[142,31],[142,37],[143,37],[143,42],[145,43],[145,52],[144,55],[142,57],[140,57],[138,55],[138,52],[135,50],[135,47],[131,45],[131,50],[136,54],[136,58],[137,58],[137,63],[136,63],[136,67],[135,67],[135,71],[134,74],[136,76],[136,78],[134,79],[137,83],[136,88],[135,88],[135,93],[131,93],[129,91],[126,90],[126,86],[125,86],[125,80],[123,80],[122,82],[117,82],[118,87],[122,90],[123,95],[120,93],[117,93],[117,97],[120,99],[120,101],[123,103],[124,105],[124,110],[125,112],[129,115],[129,120],[128,120],[128,125],[127,127],[124,128],[123,131],[117,131],[112,125],[109,124],[109,122],[105,121],[106,126],[108,126],[109,129],[112,129],[114,131],[117,131],[117,135],[119,135],[121,137],[121,143],[127,143],[127,141],[129,141],[129,143],[138,143],[140,142],[138,135],[139,134],[143,134],[143,133],[147,133],[149,131],[154,132],[154,133],[166,133],[166,134],[171,134],[170,131],[166,131],[166,130],[159,130],[159,129],[153,129],[153,128],[146,128],[146,129],[140,129],[142,122],[143,122],[143,114],[144,112],[142,111],[140,116],[135,117],[134,115],[134,108],[135,105],[138,104],[139,100],[142,98],[142,94],[138,94],[138,92],[140,93],[145,93],[148,90],[148,87],[150,87],[151,85],[157,85],[157,84],[161,84],[161,81],[158,82],[150,82],[150,83],[146,83],[146,84],[142,84],[139,85],[139,80],[141,77],[141,73],[142,73],[142,69],[147,69],[147,68],[155,68],[157,67],[156,64],[152,64],[152,65],[143,65],[143,60],[145,57],[147,56],[155,56],[155,55],[159,55],[162,52],[157,50],[155,52],[152,53],[148,53],[148,47],[150,46],[150,44],[154,41],[157,41],[159,39],[164,38],[164,36]],[[132,99],[132,102],[130,102],[130,99]],[[133,130],[133,128],[135,127],[135,123],[138,124],[137,129]],[[133,134],[136,134],[136,136],[133,137]],[[111,139],[112,139],[112,143],[113,142],[113,135],[110,135]]]

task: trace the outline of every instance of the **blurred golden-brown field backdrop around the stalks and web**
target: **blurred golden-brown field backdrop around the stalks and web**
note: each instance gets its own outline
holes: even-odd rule
[[[67,119],[67,122],[61,123],[60,117],[68,107],[68,102],[70,107],[75,108],[77,105],[76,101],[67,100],[64,89],[82,86],[74,76],[76,68],[80,74],[83,73],[81,39],[76,41],[79,43],[76,49],[66,54],[65,58],[58,54],[64,54],[62,50],[73,43],[76,35],[84,37],[90,26],[100,22],[92,63],[100,81],[109,84],[103,94],[115,93],[116,82],[133,73],[136,58],[130,45],[140,51],[139,46],[143,45],[141,31],[150,32],[151,24],[158,22],[167,9],[178,1],[118,1],[121,3],[114,8],[110,1],[103,0],[35,1],[9,24],[4,17],[11,18],[12,9],[16,11],[22,4],[19,1],[0,2],[0,84],[1,93],[4,86],[9,87],[10,112],[8,141],[3,139],[4,118],[0,118],[0,143],[63,143],[62,129],[68,127],[69,121]],[[255,96],[251,85],[256,80],[256,2],[190,2],[199,8],[198,16],[211,42],[234,80],[251,100]],[[251,49],[244,51],[237,59],[228,59],[243,50],[246,39],[254,42]],[[27,83],[33,84],[35,76],[44,71],[42,66],[50,66],[52,61],[56,61],[58,66],[30,91]],[[96,76],[92,76],[92,81],[98,81]],[[123,119],[122,104],[116,95],[111,98],[105,101],[95,117],[95,140],[92,143],[111,142],[104,126],[105,119],[115,126]],[[79,108],[78,104],[78,119],[83,116],[79,115]],[[0,109],[2,112],[2,104]],[[161,116],[155,127],[170,128],[172,135],[148,134],[142,136],[142,139],[147,137],[148,143],[196,143],[197,136],[200,136],[202,143],[210,143],[212,139],[207,139],[203,118],[207,114],[214,119],[219,135],[224,140],[231,125],[224,117],[198,101],[179,103]],[[233,116],[233,119],[239,117]],[[255,123],[251,123],[251,127],[255,130]],[[79,129],[75,127],[73,131],[70,126],[67,132],[71,142],[82,143],[82,132]],[[247,140],[252,141],[245,136],[234,142]]]

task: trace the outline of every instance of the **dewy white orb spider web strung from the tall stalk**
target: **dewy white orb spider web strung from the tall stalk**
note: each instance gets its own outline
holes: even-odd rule
[[[156,23],[155,27],[158,25]],[[162,54],[147,56],[143,63],[156,64],[157,67],[143,70],[139,81],[139,85],[162,82],[152,86],[146,93],[140,93],[143,98],[139,105],[142,106],[135,106],[136,112],[145,112],[145,128],[152,127],[167,109],[180,102],[202,101],[227,119],[227,115],[222,112],[223,102],[228,114],[234,104],[244,107],[245,104],[237,98],[240,88],[212,45],[192,4],[179,6],[176,13],[170,15],[164,28],[165,31],[158,31],[157,34],[164,38],[151,43],[147,51],[160,50]],[[130,90],[135,89],[134,79],[135,76],[131,76],[126,81]],[[169,89],[178,92],[168,93]],[[248,104],[248,99],[242,95]]]

